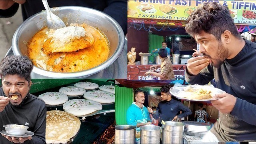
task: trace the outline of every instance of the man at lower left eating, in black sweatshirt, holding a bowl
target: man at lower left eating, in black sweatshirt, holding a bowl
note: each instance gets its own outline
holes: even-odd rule
[[[24,56],[7,56],[0,65],[0,131],[5,124],[28,126],[33,136],[15,138],[0,136],[0,143],[45,143],[46,105],[29,94],[33,64]]]

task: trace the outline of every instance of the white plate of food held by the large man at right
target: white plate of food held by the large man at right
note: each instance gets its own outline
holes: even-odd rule
[[[220,98],[214,98],[216,94],[225,93],[223,90],[214,88],[211,85],[200,86],[195,85],[182,85],[174,86],[170,88],[170,93],[179,99],[191,100],[191,101],[209,101],[218,100]]]

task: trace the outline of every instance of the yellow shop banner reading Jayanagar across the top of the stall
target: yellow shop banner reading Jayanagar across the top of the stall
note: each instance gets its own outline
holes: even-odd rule
[[[129,0],[128,18],[187,20],[203,2],[218,2],[228,6],[236,24],[256,24],[254,0]]]

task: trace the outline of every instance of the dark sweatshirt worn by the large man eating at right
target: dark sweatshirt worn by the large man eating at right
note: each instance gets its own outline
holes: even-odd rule
[[[204,85],[215,78],[216,88],[237,98],[232,112],[220,112],[211,129],[221,142],[256,141],[256,43],[245,42],[244,48],[220,68],[209,64],[196,76],[185,73],[190,84]]]

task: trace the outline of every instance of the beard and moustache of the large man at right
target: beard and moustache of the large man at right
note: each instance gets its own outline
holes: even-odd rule
[[[209,55],[203,54],[203,56],[206,56],[208,58],[211,58]],[[218,56],[218,59],[215,59],[216,62],[213,62],[212,65],[215,68],[220,68],[220,66],[224,63],[226,60],[226,56],[228,56],[228,50],[224,48],[221,42],[219,42],[218,49],[216,52],[216,56]]]

